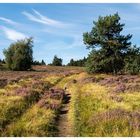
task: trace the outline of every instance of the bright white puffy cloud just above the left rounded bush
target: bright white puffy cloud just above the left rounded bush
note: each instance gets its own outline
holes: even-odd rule
[[[4,27],[4,26],[2,27],[2,30],[3,30],[4,34],[6,35],[6,37],[12,41],[24,39],[27,37],[25,34],[23,34],[21,32],[18,32],[16,30],[13,30],[13,29],[10,29],[10,28]]]

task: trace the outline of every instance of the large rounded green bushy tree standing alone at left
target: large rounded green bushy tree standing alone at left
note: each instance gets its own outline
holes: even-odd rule
[[[10,70],[28,70],[33,61],[33,39],[28,38],[18,40],[12,43],[8,49],[5,49],[5,61]]]

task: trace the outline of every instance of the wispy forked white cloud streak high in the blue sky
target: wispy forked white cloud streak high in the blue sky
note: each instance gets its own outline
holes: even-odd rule
[[[44,16],[41,13],[39,13],[37,10],[33,9],[33,12],[34,12],[34,14],[24,11],[24,12],[22,12],[22,14],[25,15],[31,21],[35,21],[35,22],[53,26],[53,27],[66,27],[69,25],[69,24],[63,23],[61,21],[50,19],[47,16]]]

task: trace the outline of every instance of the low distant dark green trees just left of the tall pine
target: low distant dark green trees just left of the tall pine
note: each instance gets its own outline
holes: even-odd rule
[[[70,62],[67,64],[67,66],[84,67],[86,60],[87,59],[85,57],[83,59],[80,59],[80,60],[73,60],[73,59],[71,59]]]

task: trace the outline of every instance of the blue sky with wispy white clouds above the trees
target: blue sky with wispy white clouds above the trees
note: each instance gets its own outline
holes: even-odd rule
[[[16,40],[33,37],[34,60],[48,64],[54,55],[67,64],[87,57],[83,33],[91,31],[99,16],[118,12],[125,23],[122,34],[132,34],[140,46],[140,4],[0,4],[0,58]]]

